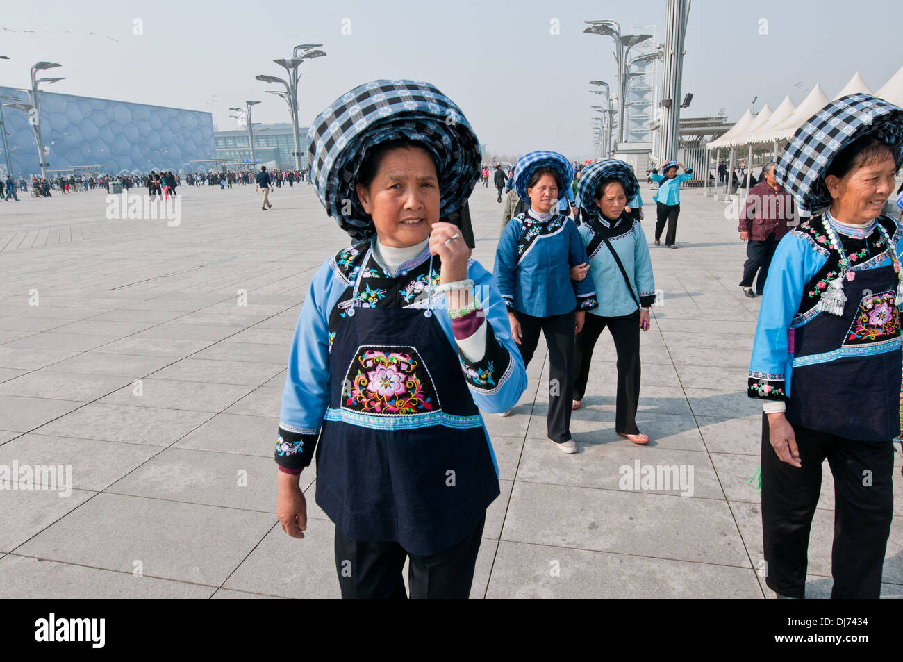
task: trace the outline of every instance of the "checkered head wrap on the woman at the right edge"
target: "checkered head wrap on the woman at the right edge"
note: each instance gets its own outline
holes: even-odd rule
[[[903,162],[903,109],[870,94],[849,94],[809,117],[777,161],[775,177],[800,209],[831,204],[824,173],[842,149],[863,135],[889,145],[894,162]]]

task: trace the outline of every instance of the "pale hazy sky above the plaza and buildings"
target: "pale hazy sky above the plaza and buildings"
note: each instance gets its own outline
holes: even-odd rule
[[[253,11],[251,11],[253,10]],[[135,34],[140,19],[141,34]],[[553,19],[560,34],[550,33]],[[340,94],[371,79],[428,80],[453,98],[490,152],[591,152],[591,79],[615,83],[612,41],[584,34],[584,20],[656,24],[665,0],[442,0],[440,2],[59,2],[5,3],[0,85],[24,87],[36,61],[58,61],[56,92],[207,110],[234,128],[228,107],[264,103],[255,122],[288,108],[258,82],[280,75],[272,60],[298,43],[328,57],[302,65],[303,126]],[[759,34],[765,23],[768,34]],[[900,0],[693,0],[684,117],[737,119],[758,96],[774,109],[816,83],[832,98],[859,70],[873,90],[903,65]],[[33,32],[26,32],[33,31]],[[68,32],[67,32],[68,31]]]

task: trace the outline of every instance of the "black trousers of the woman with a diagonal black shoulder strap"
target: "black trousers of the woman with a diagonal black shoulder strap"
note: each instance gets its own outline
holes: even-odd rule
[[[573,399],[582,400],[586,382],[590,378],[592,350],[605,328],[611,332],[618,352],[618,397],[615,413],[615,432],[638,434],[637,406],[639,403],[639,311],[620,317],[600,317],[586,313],[583,330],[574,341],[576,379]]]

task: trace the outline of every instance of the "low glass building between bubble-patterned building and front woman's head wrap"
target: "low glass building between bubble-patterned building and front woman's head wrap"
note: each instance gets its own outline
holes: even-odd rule
[[[217,131],[214,134],[217,158],[232,170],[247,168],[251,163],[251,150],[247,146],[247,129]],[[298,145],[301,148],[301,167],[307,167],[307,127],[298,127]],[[261,124],[254,127],[255,165],[294,170],[294,141],[292,125],[288,122]]]

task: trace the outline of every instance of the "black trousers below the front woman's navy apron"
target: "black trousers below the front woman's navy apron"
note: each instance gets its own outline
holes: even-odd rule
[[[484,515],[470,536],[431,555],[408,554],[394,542],[350,540],[336,527],[336,573],[342,600],[407,600],[402,577],[405,558],[411,600],[467,600],[485,523]]]

